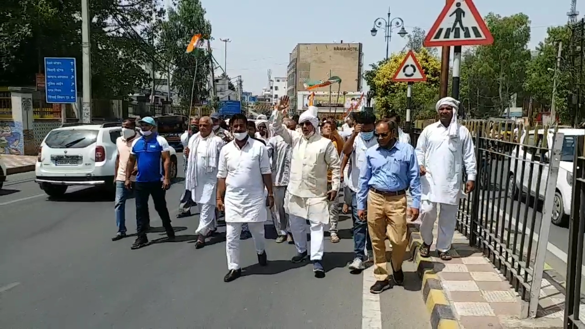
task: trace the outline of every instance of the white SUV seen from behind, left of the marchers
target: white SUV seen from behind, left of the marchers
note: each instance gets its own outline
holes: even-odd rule
[[[77,125],[53,129],[40,145],[36,182],[49,196],[62,196],[68,186],[104,186],[113,192],[116,139],[121,126]],[[177,153],[170,148],[171,178],[177,177]]]

